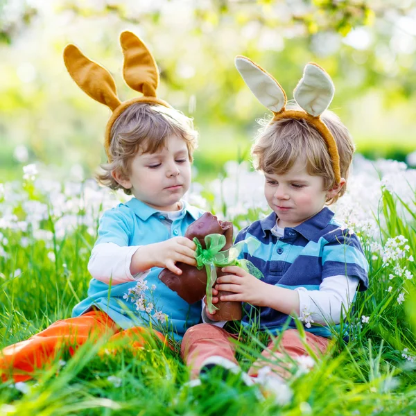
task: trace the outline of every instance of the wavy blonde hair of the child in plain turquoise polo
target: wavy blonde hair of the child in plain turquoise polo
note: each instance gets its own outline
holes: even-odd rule
[[[192,162],[193,151],[198,146],[198,132],[189,117],[163,105],[130,105],[112,125],[109,148],[112,162],[101,164],[103,172],[96,174],[96,180],[105,187],[123,189],[127,195],[131,195],[130,189],[125,189],[114,180],[112,171],[127,177],[130,175],[131,159],[137,152],[155,153],[165,146],[166,139],[172,135],[186,141]]]

